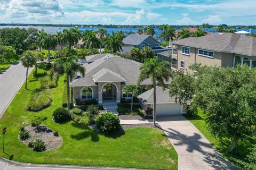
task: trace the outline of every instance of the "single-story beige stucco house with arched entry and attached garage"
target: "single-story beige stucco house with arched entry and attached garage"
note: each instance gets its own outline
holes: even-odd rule
[[[137,84],[141,63],[112,54],[86,56],[80,63],[85,63],[82,65],[86,73],[83,78],[77,75],[76,79],[70,83],[74,101],[96,99],[99,105],[104,105],[109,100],[120,103],[121,98],[131,99],[132,95],[130,92],[125,92],[124,87]],[[151,84],[150,80],[145,80],[140,87],[146,91],[146,86]],[[169,90],[161,91],[161,89],[157,88],[157,115],[185,113],[185,107],[174,102],[174,99],[169,96]],[[140,96],[140,104],[144,111],[153,107],[152,91],[152,89],[148,90]],[[146,98],[142,100],[143,97]]]

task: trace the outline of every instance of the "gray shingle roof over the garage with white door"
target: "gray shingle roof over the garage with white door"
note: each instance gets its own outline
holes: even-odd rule
[[[153,88],[143,92],[143,94],[139,95],[138,98],[143,104],[153,104],[154,103],[154,94]],[[156,87],[156,103],[175,103],[175,99],[171,98],[169,95],[169,89],[157,86]]]

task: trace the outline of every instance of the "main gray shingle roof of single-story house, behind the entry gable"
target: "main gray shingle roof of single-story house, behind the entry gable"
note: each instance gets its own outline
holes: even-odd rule
[[[85,77],[75,79],[70,83],[70,86],[96,86],[92,77],[104,68],[121,75],[121,77],[126,80],[126,84],[137,84],[140,65],[141,63],[139,62],[108,54],[106,57],[103,57],[91,64],[84,64],[83,66],[86,69]],[[150,80],[145,80],[141,84],[152,83]]]

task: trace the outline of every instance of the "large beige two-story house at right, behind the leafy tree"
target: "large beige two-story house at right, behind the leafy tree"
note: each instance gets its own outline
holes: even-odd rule
[[[235,67],[237,64],[256,66],[256,37],[213,33],[173,41],[172,47],[172,54],[158,54],[158,61],[169,61],[173,71],[183,69],[192,73],[189,66],[194,63],[224,67]]]

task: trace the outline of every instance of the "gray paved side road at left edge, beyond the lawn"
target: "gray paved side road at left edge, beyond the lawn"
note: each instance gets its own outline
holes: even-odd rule
[[[29,69],[29,73],[32,69]],[[0,118],[26,79],[26,68],[13,64],[0,74]]]

